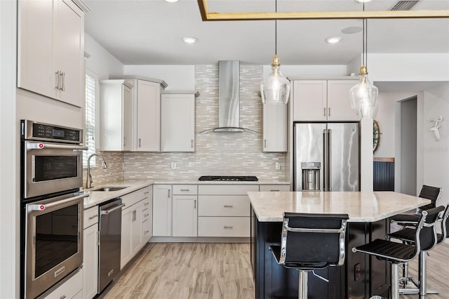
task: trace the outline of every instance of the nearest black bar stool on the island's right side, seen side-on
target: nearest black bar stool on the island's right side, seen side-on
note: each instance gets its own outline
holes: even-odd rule
[[[422,211],[413,238],[415,245],[375,239],[368,244],[352,248],[354,253],[374,255],[379,260],[391,263],[391,299],[399,298],[398,264],[413,260],[421,251],[427,251],[435,246],[437,241],[435,225],[441,219],[443,211],[443,206]],[[425,295],[420,294],[420,298],[425,298]]]

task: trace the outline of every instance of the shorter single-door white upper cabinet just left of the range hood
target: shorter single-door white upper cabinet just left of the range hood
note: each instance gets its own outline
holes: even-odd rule
[[[195,151],[196,92],[161,95],[161,152]]]

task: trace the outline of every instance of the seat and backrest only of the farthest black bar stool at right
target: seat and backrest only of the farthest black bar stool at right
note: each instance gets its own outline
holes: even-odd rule
[[[401,225],[406,227],[408,225],[416,225],[418,222],[421,212],[428,210],[429,208],[435,208],[436,204],[438,204],[439,199],[441,198],[441,192],[443,189],[440,187],[432,187],[428,185],[422,185],[420,194],[418,197],[422,197],[424,199],[430,199],[431,203],[425,206],[421,206],[416,209],[414,214],[398,214],[394,215],[390,218],[391,223],[395,223],[397,225]]]

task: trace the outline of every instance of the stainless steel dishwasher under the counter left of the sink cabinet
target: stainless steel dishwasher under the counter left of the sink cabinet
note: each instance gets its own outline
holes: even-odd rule
[[[98,248],[98,293],[120,272],[121,199],[112,199],[100,208]]]

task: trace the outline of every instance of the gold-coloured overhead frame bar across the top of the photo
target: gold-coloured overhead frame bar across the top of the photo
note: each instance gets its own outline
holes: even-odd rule
[[[295,11],[260,13],[209,13],[208,0],[198,0],[203,21],[241,20],[319,20],[319,19],[394,19],[449,18],[449,10],[440,11]]]

